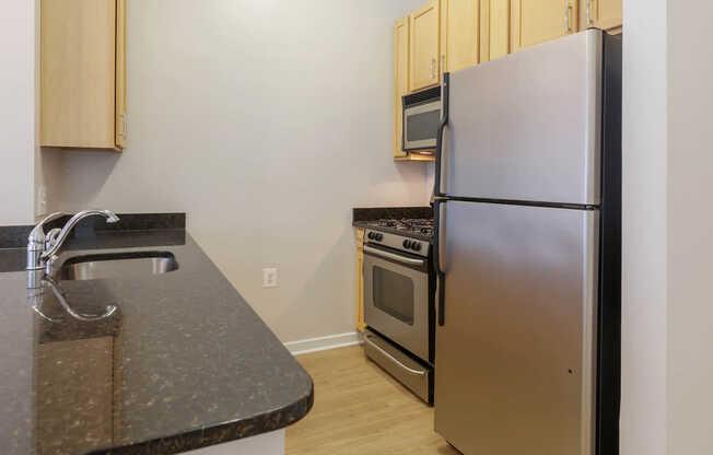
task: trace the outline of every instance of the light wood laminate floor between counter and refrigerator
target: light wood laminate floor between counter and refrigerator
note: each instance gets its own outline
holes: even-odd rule
[[[458,455],[433,431],[433,408],[366,360],[360,346],[297,355],[315,404],[288,428],[287,455]]]

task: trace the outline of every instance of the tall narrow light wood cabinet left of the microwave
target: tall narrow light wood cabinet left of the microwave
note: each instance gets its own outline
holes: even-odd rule
[[[409,19],[394,24],[394,158],[408,156],[401,147],[404,108],[401,96],[409,92]]]

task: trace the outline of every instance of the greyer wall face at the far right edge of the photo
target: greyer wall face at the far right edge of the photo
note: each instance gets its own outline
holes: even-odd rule
[[[710,0],[668,0],[668,453],[713,454]]]

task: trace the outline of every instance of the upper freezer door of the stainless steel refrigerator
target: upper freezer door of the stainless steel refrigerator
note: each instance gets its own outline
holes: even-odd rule
[[[442,190],[599,203],[600,31],[451,74]]]

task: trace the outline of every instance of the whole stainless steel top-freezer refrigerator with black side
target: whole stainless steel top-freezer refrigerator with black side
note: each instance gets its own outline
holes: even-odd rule
[[[464,454],[618,453],[621,38],[445,74],[435,430]]]

